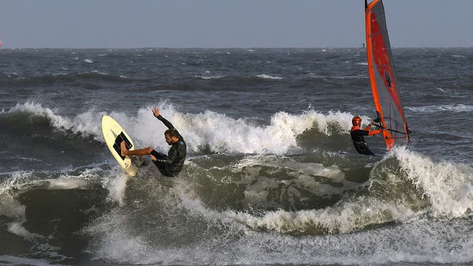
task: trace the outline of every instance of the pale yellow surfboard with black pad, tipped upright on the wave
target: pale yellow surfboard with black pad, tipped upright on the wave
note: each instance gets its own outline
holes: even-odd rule
[[[143,163],[143,158],[141,156],[121,155],[120,143],[122,141],[125,141],[127,149],[135,149],[135,144],[133,144],[133,141],[127,132],[125,132],[120,124],[113,120],[112,117],[104,115],[102,117],[102,133],[103,139],[105,139],[108,149],[110,149],[115,160],[117,160],[120,166],[125,170],[125,173],[130,176],[135,176],[138,172],[139,166]]]

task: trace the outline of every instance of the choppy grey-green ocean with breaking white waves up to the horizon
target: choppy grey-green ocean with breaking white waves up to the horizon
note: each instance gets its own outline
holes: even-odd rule
[[[358,154],[366,51],[0,50],[1,265],[471,265],[473,48],[393,50],[407,146]],[[125,175],[110,115],[145,158]]]

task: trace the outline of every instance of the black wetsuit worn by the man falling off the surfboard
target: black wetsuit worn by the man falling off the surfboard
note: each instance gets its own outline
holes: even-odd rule
[[[174,126],[168,120],[164,119],[161,115],[157,117],[158,120],[161,120],[166,127],[169,129],[175,129]],[[152,156],[156,157],[156,161],[153,163],[165,176],[173,177],[176,176],[182,170],[184,161],[186,160],[186,142],[184,141],[181,134],[178,133],[179,140],[172,144],[171,149],[168,151],[168,155],[162,154],[157,151],[152,151]]]

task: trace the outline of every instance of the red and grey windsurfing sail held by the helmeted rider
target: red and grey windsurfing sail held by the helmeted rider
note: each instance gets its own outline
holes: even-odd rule
[[[381,0],[367,4],[365,0],[366,51],[368,71],[377,119],[388,151],[395,145],[407,144],[409,129],[397,93],[391,45],[387,35],[384,6]]]

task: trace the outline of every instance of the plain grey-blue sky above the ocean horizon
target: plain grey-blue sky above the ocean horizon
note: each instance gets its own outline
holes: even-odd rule
[[[384,0],[392,47],[473,47],[473,0]],[[2,0],[4,48],[360,47],[363,0]]]

